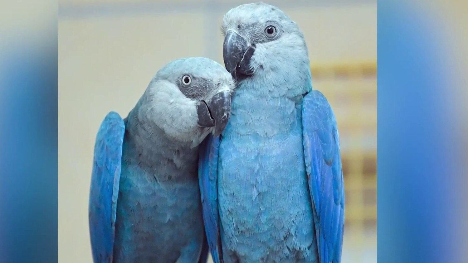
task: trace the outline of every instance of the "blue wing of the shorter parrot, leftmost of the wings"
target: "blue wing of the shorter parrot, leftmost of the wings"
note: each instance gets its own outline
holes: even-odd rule
[[[89,191],[89,234],[95,263],[112,262],[124,133],[124,120],[110,112],[96,136]]]

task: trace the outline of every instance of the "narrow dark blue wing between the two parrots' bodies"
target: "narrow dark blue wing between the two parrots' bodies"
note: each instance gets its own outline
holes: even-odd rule
[[[218,151],[220,136],[210,134],[200,144],[198,176],[203,205],[203,220],[210,252],[215,263],[222,263],[218,210]]]

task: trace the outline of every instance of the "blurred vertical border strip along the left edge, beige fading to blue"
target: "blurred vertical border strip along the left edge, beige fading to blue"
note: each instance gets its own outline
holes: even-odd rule
[[[8,12],[0,31],[0,262],[53,263],[58,245],[57,6],[11,2],[0,8]]]

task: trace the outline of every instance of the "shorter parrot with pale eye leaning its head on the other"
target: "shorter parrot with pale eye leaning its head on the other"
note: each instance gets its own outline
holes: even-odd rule
[[[206,262],[198,146],[226,127],[234,87],[222,65],[178,59],[125,119],[104,118],[89,194],[95,263]]]

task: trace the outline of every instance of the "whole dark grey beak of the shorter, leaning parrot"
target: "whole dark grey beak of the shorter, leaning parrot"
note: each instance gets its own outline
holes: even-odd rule
[[[209,103],[200,101],[197,106],[198,125],[214,127],[214,136],[218,136],[226,128],[231,115],[231,92],[228,90],[216,93]]]

